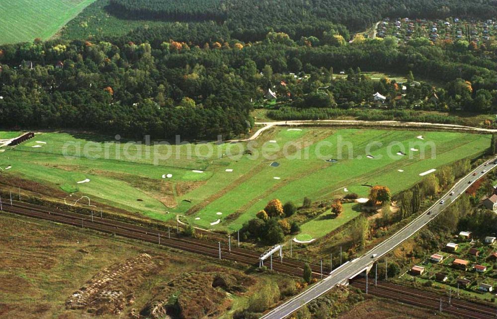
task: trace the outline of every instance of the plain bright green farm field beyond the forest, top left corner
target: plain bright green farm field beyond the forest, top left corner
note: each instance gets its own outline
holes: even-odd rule
[[[0,1],[0,44],[52,37],[95,0]]]

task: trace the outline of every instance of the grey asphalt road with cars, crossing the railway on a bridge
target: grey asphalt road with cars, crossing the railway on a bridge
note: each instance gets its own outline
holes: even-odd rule
[[[473,182],[487,174],[490,170],[494,169],[497,166],[494,164],[495,161],[497,161],[497,157],[487,161],[486,163],[489,163],[487,166],[482,164],[470,174],[459,180],[454,187],[445,193],[436,203],[434,203],[411,223],[395,233],[392,237],[385,240],[366,254],[343,264],[339,268],[336,268],[328,277],[300,295],[295,296],[281,306],[273,309],[266,315],[262,316],[261,319],[285,318],[294,311],[298,310],[300,307],[328,292],[334,286],[346,283],[349,278],[352,278],[356,274],[364,271],[364,269],[371,266],[377,259],[391,252],[405,240],[413,236],[418,230],[428,224],[436,216],[438,216],[438,214],[440,214],[440,212],[442,212],[450,203],[463,194],[473,184]],[[375,256],[373,257],[373,255]]]

